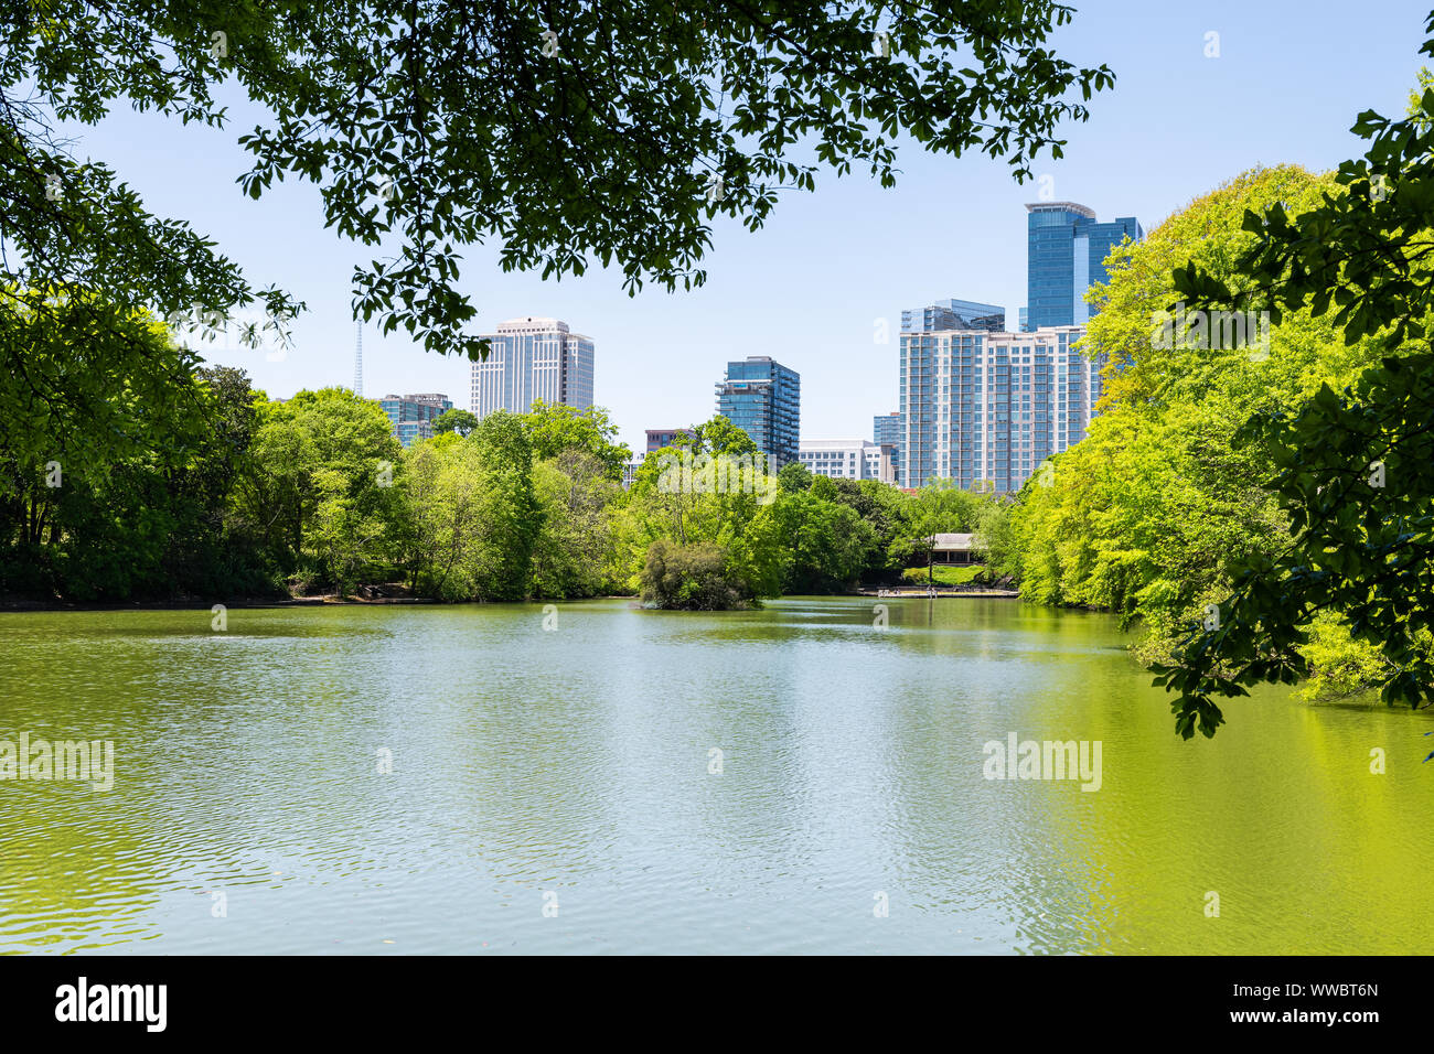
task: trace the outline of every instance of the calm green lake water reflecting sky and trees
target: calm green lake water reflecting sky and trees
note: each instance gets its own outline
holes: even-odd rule
[[[0,615],[0,739],[116,753],[0,783],[0,951],[1434,949],[1430,714],[1183,743],[1107,617],[888,605]],[[1011,731],[1101,789],[984,779]]]

